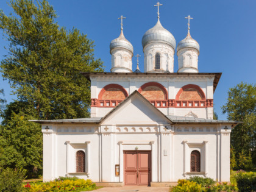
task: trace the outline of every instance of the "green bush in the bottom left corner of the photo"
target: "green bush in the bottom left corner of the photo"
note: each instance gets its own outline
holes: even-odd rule
[[[0,169],[0,191],[18,191],[22,190],[22,182],[25,179],[26,170],[24,169]]]

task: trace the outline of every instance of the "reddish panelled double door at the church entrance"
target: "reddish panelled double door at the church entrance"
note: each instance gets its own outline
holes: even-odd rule
[[[147,185],[151,182],[151,151],[124,151],[125,185]]]

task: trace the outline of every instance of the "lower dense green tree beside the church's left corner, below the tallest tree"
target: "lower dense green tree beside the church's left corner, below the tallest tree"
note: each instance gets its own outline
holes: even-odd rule
[[[42,173],[43,140],[41,126],[29,122],[32,116],[12,114],[0,129],[0,168],[21,168],[28,177]]]

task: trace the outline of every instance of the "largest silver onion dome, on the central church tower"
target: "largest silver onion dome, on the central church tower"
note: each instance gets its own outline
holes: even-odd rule
[[[152,42],[162,42],[169,44],[173,49],[176,47],[176,40],[173,37],[173,35],[163,28],[162,24],[160,23],[160,20],[158,19],[157,24],[155,24],[154,27],[149,29],[142,38],[142,46],[143,48],[148,44]]]

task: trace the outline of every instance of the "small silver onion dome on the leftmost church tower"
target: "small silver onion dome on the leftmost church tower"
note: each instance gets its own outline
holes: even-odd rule
[[[124,37],[123,29],[121,29],[121,34],[118,38],[115,38],[110,43],[110,54],[113,49],[115,48],[123,48],[127,49],[128,51],[132,52],[133,55],[133,46],[132,44]]]

